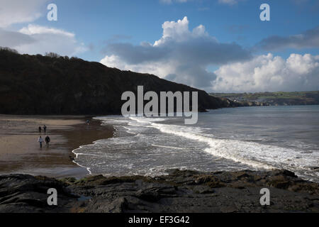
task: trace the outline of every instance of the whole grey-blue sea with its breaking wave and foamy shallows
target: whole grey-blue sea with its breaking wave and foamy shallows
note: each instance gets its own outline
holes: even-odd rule
[[[100,116],[113,138],[82,145],[74,162],[93,175],[166,175],[286,169],[319,182],[319,106],[253,106],[184,118]]]

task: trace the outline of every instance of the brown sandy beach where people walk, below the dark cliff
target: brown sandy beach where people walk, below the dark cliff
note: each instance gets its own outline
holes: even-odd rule
[[[91,122],[86,124],[86,119]],[[38,127],[47,126],[47,133]],[[40,148],[50,136],[50,148]],[[47,177],[84,177],[89,172],[72,161],[72,150],[95,140],[110,138],[113,128],[85,116],[0,115],[0,175],[30,174]]]

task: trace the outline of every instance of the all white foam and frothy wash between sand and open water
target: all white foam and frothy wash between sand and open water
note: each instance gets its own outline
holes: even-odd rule
[[[121,171],[125,168],[128,170],[128,172],[125,172],[125,175],[129,175],[130,173],[145,174],[145,172],[147,174],[147,172],[150,171],[150,168],[152,168],[152,165],[147,164],[147,157],[156,160],[157,153],[160,155],[161,152],[167,152],[169,155],[174,156],[174,153],[183,155],[184,151],[186,153],[189,152],[189,150],[195,150],[196,152],[193,154],[195,155],[194,157],[197,157],[198,152],[200,153],[202,150],[206,153],[206,157],[212,157],[212,159],[218,158],[220,163],[225,163],[221,165],[221,167],[225,168],[234,166],[236,168],[247,168],[247,165],[250,165],[256,169],[285,168],[296,172],[296,174],[300,176],[304,176],[303,174],[308,175],[306,177],[309,177],[310,175],[318,178],[319,176],[319,172],[310,170],[310,167],[318,166],[319,153],[303,152],[303,149],[296,150],[298,148],[293,148],[293,150],[274,145],[265,145],[259,143],[259,141],[247,141],[248,138],[247,140],[240,140],[238,139],[238,136],[227,139],[216,138],[211,132],[207,133],[207,130],[209,131],[211,128],[177,126],[164,123],[164,121],[172,118],[145,118],[136,116],[125,118],[116,116],[99,117],[98,119],[102,120],[103,124],[115,126],[117,137],[95,141],[93,145],[84,145],[81,146],[79,150],[74,150],[74,154],[76,154],[77,158],[78,155],[80,156],[76,161],[79,161],[82,165],[74,162],[82,167],[84,167],[83,165],[88,166],[86,167],[86,170],[88,170],[90,174],[91,171],[94,173],[99,172],[105,174],[112,171]],[[152,128],[155,128],[155,130]],[[165,134],[176,136],[161,135],[157,130]],[[183,138],[186,138],[187,140]],[[184,142],[181,144],[181,147],[183,148],[179,148],[179,144],[177,144],[179,142],[176,142],[179,140],[187,141],[185,144]],[[147,145],[163,149],[154,148],[154,150],[152,150],[152,148],[150,148],[150,150],[147,150],[146,154],[140,153],[140,150],[143,150]],[[189,147],[184,147],[184,145]],[[198,145],[197,148],[199,149],[195,147],[196,145]],[[175,150],[172,151],[172,149]],[[108,151],[106,152],[106,150],[110,150],[111,153]],[[138,154],[138,156],[135,154]],[[152,155],[155,156],[152,157]],[[101,160],[103,158],[109,163],[108,167],[106,165],[103,166],[103,160]],[[130,166],[131,158],[133,158],[134,166]],[[234,163],[229,162],[228,160],[239,162],[240,165],[233,165]],[[196,167],[201,168],[201,165],[198,163],[199,162],[196,162],[196,165],[198,166],[193,166],[192,161],[185,163],[179,162],[179,160],[177,160],[177,162],[159,162],[155,167],[156,171],[154,169],[154,173],[160,172],[162,174],[162,169],[172,168],[175,164],[178,165],[177,167],[185,165],[192,169]],[[228,165],[228,163],[231,164]],[[123,165],[123,167],[118,167],[119,165]],[[131,168],[133,169],[130,170]]]

